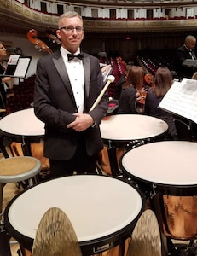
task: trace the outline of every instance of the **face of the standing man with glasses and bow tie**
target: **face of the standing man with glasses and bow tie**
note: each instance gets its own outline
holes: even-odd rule
[[[63,18],[61,29],[57,30],[57,36],[65,49],[75,53],[84,38],[83,21],[78,17]]]

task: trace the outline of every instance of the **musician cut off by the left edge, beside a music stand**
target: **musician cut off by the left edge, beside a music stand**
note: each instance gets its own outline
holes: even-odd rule
[[[3,43],[0,42],[0,74],[3,74],[5,71],[5,67],[3,67],[3,60],[7,56],[6,48],[3,46]],[[0,117],[6,112],[6,90],[9,87],[7,82],[9,82],[12,78],[10,77],[0,77]]]

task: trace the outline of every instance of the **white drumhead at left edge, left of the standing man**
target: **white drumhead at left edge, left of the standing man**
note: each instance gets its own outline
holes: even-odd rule
[[[44,124],[35,116],[33,108],[28,108],[3,117],[0,130],[20,136],[43,136]]]

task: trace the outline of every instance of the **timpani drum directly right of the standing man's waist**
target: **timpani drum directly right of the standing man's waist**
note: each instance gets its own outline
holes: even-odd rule
[[[101,138],[107,146],[103,150],[105,171],[105,159],[111,167],[111,174],[119,174],[119,159],[125,150],[136,144],[149,143],[161,140],[168,131],[168,125],[161,119],[143,114],[116,114],[107,116],[101,121]],[[108,171],[107,171],[108,172]]]

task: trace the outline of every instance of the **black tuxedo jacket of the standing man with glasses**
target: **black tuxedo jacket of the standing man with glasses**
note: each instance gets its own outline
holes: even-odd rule
[[[86,131],[67,129],[78,112],[60,50],[38,60],[34,90],[34,111],[45,123],[44,155],[53,160],[69,160],[83,136],[89,155],[97,154],[103,148],[100,133],[101,119],[106,115],[108,98],[105,94],[97,107],[90,111],[103,89],[101,67],[96,57],[83,53],[84,65],[84,113],[90,113],[96,125]]]

